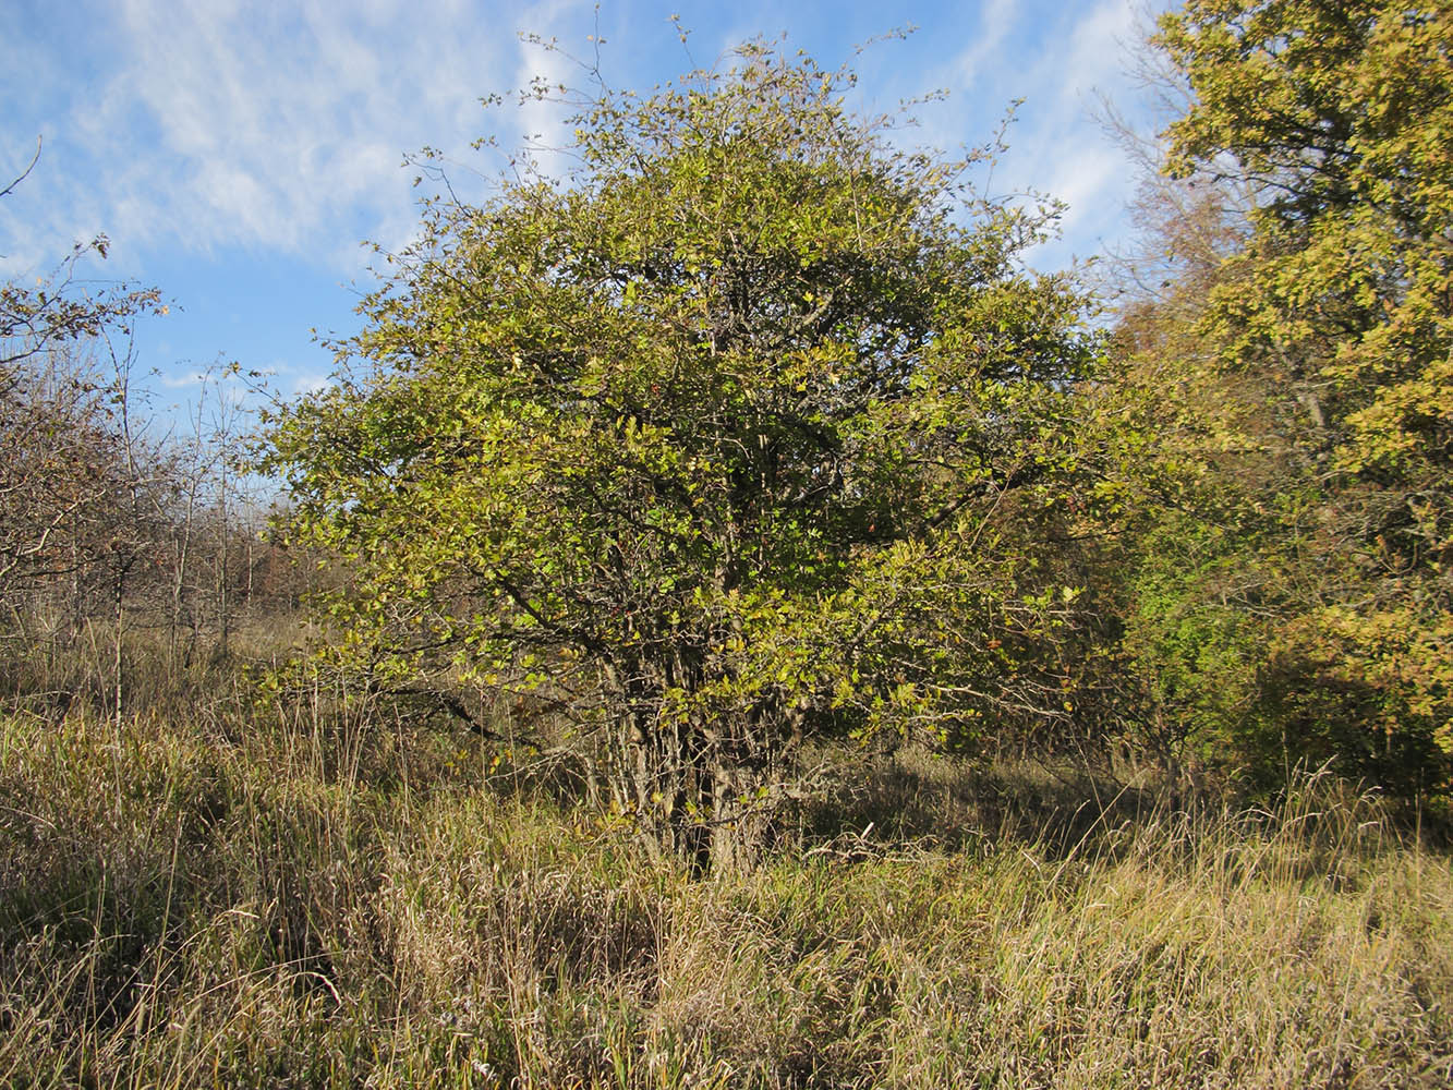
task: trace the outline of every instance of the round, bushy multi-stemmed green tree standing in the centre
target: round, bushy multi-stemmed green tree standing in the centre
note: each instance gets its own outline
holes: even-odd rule
[[[568,185],[429,206],[267,437],[283,533],[352,565],[328,654],[546,699],[699,863],[805,735],[1064,715],[1048,542],[1098,342],[1016,263],[1046,218],[895,148],[851,81],[753,44],[603,92]]]

